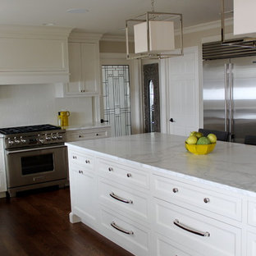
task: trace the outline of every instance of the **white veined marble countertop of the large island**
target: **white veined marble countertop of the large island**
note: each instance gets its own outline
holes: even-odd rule
[[[77,141],[75,147],[112,156],[121,162],[170,172],[176,176],[256,195],[256,146],[217,141],[212,153],[194,155],[185,137],[148,133]],[[253,193],[251,193],[253,192]]]

